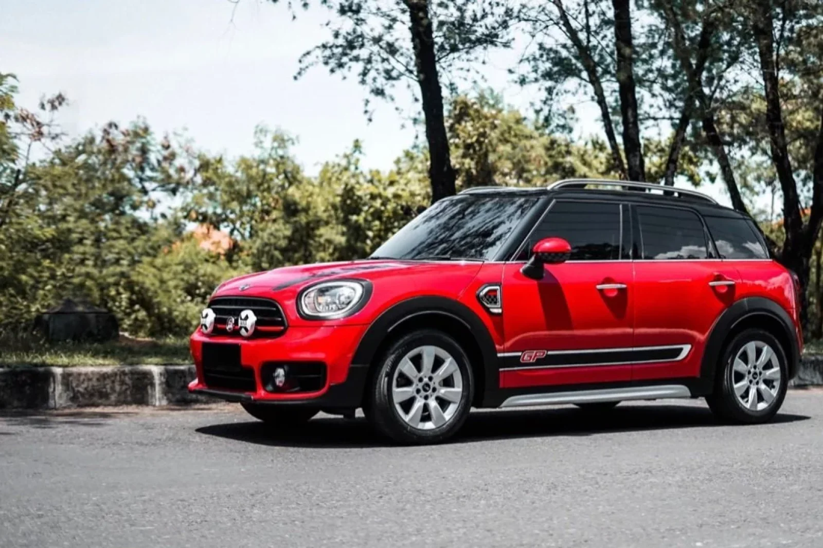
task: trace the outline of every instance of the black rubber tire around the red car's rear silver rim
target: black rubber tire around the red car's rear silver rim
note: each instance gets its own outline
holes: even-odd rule
[[[771,392],[774,393],[774,399],[768,403],[766,403],[763,392],[756,388],[756,384],[751,384],[757,382],[756,378],[750,378],[749,373],[743,374],[740,371],[734,370],[733,364],[738,353],[751,342],[765,343],[765,345],[768,345],[773,351],[774,357],[779,365],[779,386],[777,387],[776,393]],[[760,352],[762,352],[762,350],[760,350]],[[772,420],[780,410],[780,406],[783,405],[783,399],[786,397],[786,390],[788,388],[788,360],[786,359],[786,352],[783,350],[780,342],[769,332],[765,332],[762,329],[746,329],[738,333],[728,342],[723,349],[722,356],[720,363],[718,363],[714,392],[706,397],[709,409],[723,422],[758,425]],[[759,358],[762,354],[756,354],[756,356]],[[762,372],[756,374],[761,378],[763,377]],[[751,396],[750,391],[755,390],[755,406],[760,406],[760,402],[762,402],[765,407],[763,409],[751,409],[748,406],[744,406],[743,402],[738,399],[737,392],[734,388],[736,380],[738,386],[744,381],[748,385],[744,388],[745,392],[742,392],[741,397],[748,399],[748,397]],[[773,390],[774,383],[771,381],[766,382],[771,383],[769,388]]]

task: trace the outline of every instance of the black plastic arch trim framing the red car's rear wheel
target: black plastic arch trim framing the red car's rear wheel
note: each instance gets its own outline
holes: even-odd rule
[[[764,297],[746,297],[732,304],[715,320],[714,326],[709,332],[709,339],[706,341],[703,360],[700,363],[700,378],[714,386],[714,374],[723,355],[723,343],[726,341],[728,334],[743,320],[756,316],[768,316],[777,320],[780,326],[783,327],[783,334],[789,341],[789,347],[786,349],[788,351],[786,356],[788,359],[788,378],[793,378],[797,374],[800,346],[792,318],[774,300],[765,299]]]

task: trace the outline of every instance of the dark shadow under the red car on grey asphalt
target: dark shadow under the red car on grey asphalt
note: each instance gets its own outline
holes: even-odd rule
[[[808,416],[779,413],[770,424],[807,420]],[[469,416],[454,444],[493,439],[552,436],[588,436],[625,431],[679,430],[723,426],[711,411],[701,406],[618,406],[603,413],[574,407],[539,410],[475,411]],[[763,428],[768,425],[746,426]],[[743,428],[743,427],[741,427]],[[296,430],[277,430],[259,421],[202,426],[199,434],[233,439],[249,444],[305,448],[357,448],[391,445],[370,428],[363,418],[355,420],[320,417]]]

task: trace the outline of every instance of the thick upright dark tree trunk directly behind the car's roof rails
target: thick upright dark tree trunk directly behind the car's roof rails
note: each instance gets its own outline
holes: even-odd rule
[[[617,54],[617,85],[620,92],[620,109],[623,118],[623,151],[629,166],[629,179],[646,180],[643,146],[640,143],[640,127],[635,86],[634,45],[631,38],[630,0],[612,0],[615,12],[615,48]]]

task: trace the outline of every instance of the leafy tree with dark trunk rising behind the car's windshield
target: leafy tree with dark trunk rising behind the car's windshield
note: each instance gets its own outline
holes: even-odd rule
[[[506,0],[320,3],[332,14],[327,22],[331,37],[303,55],[298,76],[316,64],[332,73],[356,72],[371,96],[389,101],[394,100],[398,83],[416,85],[429,149],[431,200],[452,195],[454,170],[442,82],[469,70],[470,63],[487,49],[509,45],[514,8]],[[451,91],[454,86],[449,81]]]

